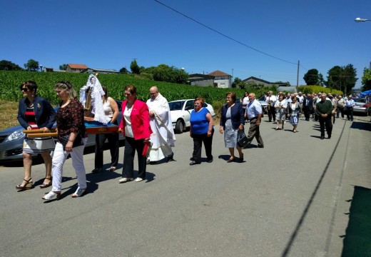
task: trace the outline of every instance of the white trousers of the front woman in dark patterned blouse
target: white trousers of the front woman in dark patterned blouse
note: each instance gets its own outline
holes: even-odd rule
[[[83,166],[83,148],[88,138],[83,138],[83,146],[76,146],[72,148],[71,152],[63,151],[63,145],[59,142],[56,143],[54,156],[51,166],[51,176],[53,176],[51,191],[59,192],[62,189],[62,173],[63,164],[68,155],[71,154],[72,166],[75,169],[77,176],[78,188],[86,188],[86,173],[85,166]]]

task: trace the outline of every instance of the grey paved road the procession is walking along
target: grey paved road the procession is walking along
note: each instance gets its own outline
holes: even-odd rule
[[[71,160],[64,168],[63,198],[49,203],[41,200],[49,188],[16,192],[22,167],[1,167],[0,256],[341,256],[343,248],[352,251],[351,243],[343,243],[350,239],[351,200],[355,188],[371,188],[370,118],[338,119],[330,140],[320,140],[314,121],[300,120],[299,132],[292,133],[290,124],[275,131],[267,120],[261,126],[265,148],[244,149],[245,163],[226,163],[228,149],[215,131],[213,163],[189,166],[193,143],[183,133],[177,135],[176,161],[148,166],[146,182],[119,184],[121,169],[92,174],[94,156],[87,154],[90,193],[81,198],[70,196],[76,190]],[[33,167],[37,184],[43,169]]]

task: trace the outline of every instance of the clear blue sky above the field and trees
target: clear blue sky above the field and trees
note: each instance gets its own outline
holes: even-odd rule
[[[167,64],[189,74],[220,70],[240,79],[305,84],[352,64],[361,86],[371,61],[370,0],[0,1],[0,59],[19,66],[86,64],[116,69]],[[250,49],[257,49],[255,51]],[[265,53],[262,54],[259,51]],[[275,56],[280,61],[270,56]]]

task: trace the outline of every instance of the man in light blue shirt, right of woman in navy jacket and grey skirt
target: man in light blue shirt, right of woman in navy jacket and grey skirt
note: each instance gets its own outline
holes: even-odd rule
[[[264,148],[263,139],[260,136],[260,121],[262,119],[262,106],[259,101],[255,99],[255,94],[249,94],[250,103],[246,108],[245,117],[250,121],[250,129],[248,130],[248,144],[256,138],[258,141],[258,148]]]

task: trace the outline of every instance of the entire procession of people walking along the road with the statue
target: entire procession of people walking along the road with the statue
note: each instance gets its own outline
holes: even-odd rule
[[[41,133],[49,133],[56,121],[57,141],[51,136],[38,138],[24,138],[24,181],[16,186],[23,191],[33,188],[31,178],[31,155],[40,153],[44,158],[46,175],[41,188],[51,186],[51,191],[42,196],[44,200],[61,198],[61,183],[63,163],[71,156],[72,166],[77,176],[77,189],[72,197],[80,197],[86,192],[86,168],[83,163],[83,149],[87,141],[86,119],[95,119],[102,126],[117,126],[118,130],[112,133],[96,134],[95,163],[92,173],[103,171],[103,144],[108,140],[111,152],[110,171],[116,170],[119,158],[118,133],[125,136],[123,153],[122,176],[119,183],[128,181],[140,182],[146,179],[146,166],[163,159],[173,161],[176,136],[171,121],[171,111],[168,101],[163,97],[156,86],[149,89],[150,98],[143,102],[137,99],[136,86],[128,85],[123,91],[125,101],[121,104],[121,122],[118,124],[118,105],[108,96],[106,87],[101,86],[96,76],[89,76],[86,86],[80,91],[80,99],[68,81],[59,81],[54,86],[56,95],[60,99],[59,109],[54,111],[49,101],[37,96],[37,84],[34,81],[25,81],[20,86],[23,98],[19,101],[19,124],[26,130],[39,129]],[[305,121],[312,116],[320,123],[320,138],[331,138],[332,124],[347,115],[352,121],[352,108],[355,102],[352,96],[347,99],[331,94],[284,94],[279,92],[273,95],[269,91],[265,97],[268,119],[276,125],[275,130],[284,130],[288,121],[294,133],[298,132],[299,117],[304,114]],[[96,116],[95,116],[96,114]],[[219,132],[223,134],[225,148],[228,148],[230,157],[227,163],[243,163],[243,148],[248,146],[254,138],[258,148],[264,148],[263,138],[260,136],[260,124],[263,116],[263,107],[255,99],[254,93],[245,92],[243,99],[237,101],[236,94],[225,94],[225,104],[220,112]],[[245,124],[250,123],[247,135]],[[194,109],[190,114],[190,137],[193,139],[193,153],[190,157],[190,166],[201,163],[202,145],[205,148],[207,163],[213,162],[212,146],[214,124],[210,111],[205,108],[205,101],[198,97],[194,101]],[[242,139],[245,138],[245,140]],[[241,142],[243,141],[243,145]],[[235,157],[235,148],[238,158]],[[51,152],[53,154],[51,155]],[[137,153],[138,176],[134,179],[134,157]]]

